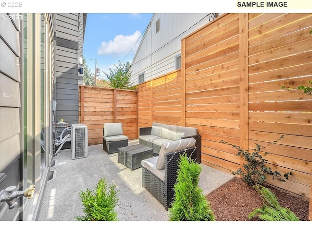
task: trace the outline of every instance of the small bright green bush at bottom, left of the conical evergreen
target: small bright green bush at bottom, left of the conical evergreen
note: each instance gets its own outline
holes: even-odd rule
[[[75,216],[79,221],[117,221],[115,207],[118,202],[116,184],[107,186],[105,178],[98,181],[95,191],[86,189],[79,196],[84,206],[83,216]]]

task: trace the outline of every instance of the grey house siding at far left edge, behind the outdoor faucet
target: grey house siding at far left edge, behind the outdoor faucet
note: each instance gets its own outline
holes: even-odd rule
[[[0,190],[12,185],[19,190],[22,188],[20,21],[0,20],[0,51]],[[15,201],[20,207],[21,198]],[[0,207],[0,220],[21,219],[22,209]]]

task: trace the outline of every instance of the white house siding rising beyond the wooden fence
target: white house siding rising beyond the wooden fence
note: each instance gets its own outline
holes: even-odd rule
[[[158,19],[160,30],[156,33]],[[138,84],[142,73],[149,80],[176,70],[181,39],[212,19],[210,13],[155,13],[131,64],[131,82]]]

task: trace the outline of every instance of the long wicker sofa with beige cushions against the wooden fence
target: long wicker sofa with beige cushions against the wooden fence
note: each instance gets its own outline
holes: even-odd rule
[[[196,161],[201,162],[201,136],[197,128],[152,123],[152,127],[139,128],[139,144],[153,148],[153,155],[158,156],[162,143],[193,137],[197,147]]]

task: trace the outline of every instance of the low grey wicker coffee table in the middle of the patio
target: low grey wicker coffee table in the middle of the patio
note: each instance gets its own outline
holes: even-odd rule
[[[130,145],[118,148],[118,162],[131,171],[140,168],[141,161],[153,157],[153,148],[143,145]]]

